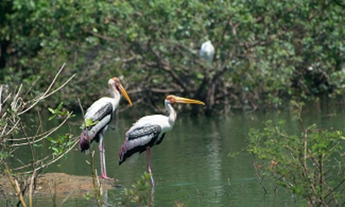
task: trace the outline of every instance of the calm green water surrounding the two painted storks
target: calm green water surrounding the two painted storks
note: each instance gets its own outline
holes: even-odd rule
[[[119,179],[118,184],[129,188],[146,170],[146,153],[140,155],[136,164],[118,165],[119,148],[124,134],[138,117],[125,117],[126,112],[113,120],[112,128],[105,135],[106,164],[109,177]],[[268,182],[264,190],[257,183],[253,157],[243,152],[235,159],[229,152],[238,152],[248,144],[248,130],[263,128],[263,121],[286,120],[286,129],[297,132],[298,124],[289,109],[274,112],[243,112],[230,117],[187,117],[179,115],[174,128],[166,134],[164,141],[151,150],[151,168],[157,186],[153,193],[155,206],[175,206],[175,202],[186,206],[301,206],[303,200],[284,190],[273,192]],[[341,102],[328,103],[321,100],[309,103],[304,110],[306,124],[319,124],[323,128],[342,130],[344,110]],[[80,117],[75,121],[81,121]],[[71,128],[77,135],[79,126]],[[62,133],[62,132],[61,132]],[[97,145],[96,166],[99,170]],[[43,147],[44,152],[48,150]],[[26,156],[23,153],[23,156]],[[89,157],[72,150],[67,159],[61,159],[46,172],[66,172],[72,175],[90,175],[86,164]],[[114,204],[121,188],[108,190],[108,203]],[[39,197],[37,206],[52,206],[50,198]],[[65,206],[95,206],[95,202],[83,197],[74,197]]]

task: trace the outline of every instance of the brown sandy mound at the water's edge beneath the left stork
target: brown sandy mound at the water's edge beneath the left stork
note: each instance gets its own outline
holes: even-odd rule
[[[115,180],[99,179],[103,189],[112,189],[116,187]],[[8,181],[6,175],[0,175],[0,188],[6,191],[6,194],[14,195],[14,189]],[[66,173],[50,172],[39,175],[37,179],[34,195],[83,195],[91,193],[93,190],[92,177],[67,175]],[[28,190],[26,191],[28,192]]]

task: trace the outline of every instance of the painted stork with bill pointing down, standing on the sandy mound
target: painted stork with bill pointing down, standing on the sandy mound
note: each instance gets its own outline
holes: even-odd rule
[[[124,97],[126,97],[130,106],[132,106],[130,97],[128,97],[124,86],[121,85],[120,80],[117,77],[109,79],[108,87],[112,97],[102,97],[101,99],[95,101],[95,103],[92,103],[90,108],[86,110],[82,132],[79,137],[79,150],[81,150],[81,152],[85,152],[86,154],[90,152],[90,143],[92,144],[93,141],[99,142],[99,157],[101,159],[100,178],[103,179],[110,179],[106,172],[104,132],[106,132],[108,125],[112,120],[112,115],[114,114],[117,106],[119,106],[121,97],[120,92],[124,95]]]

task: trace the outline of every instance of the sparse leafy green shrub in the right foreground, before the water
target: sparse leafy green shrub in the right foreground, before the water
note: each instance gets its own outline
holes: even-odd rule
[[[340,131],[328,131],[314,124],[305,127],[297,106],[300,132],[284,130],[284,121],[266,121],[264,130],[251,129],[248,152],[253,153],[259,183],[265,192],[268,177],[277,186],[300,195],[308,206],[344,205],[344,150],[345,137]],[[264,181],[265,180],[265,181]]]

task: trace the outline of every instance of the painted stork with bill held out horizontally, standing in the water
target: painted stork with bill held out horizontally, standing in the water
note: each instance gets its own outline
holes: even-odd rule
[[[150,174],[151,185],[155,187],[150,167],[150,149],[152,146],[161,144],[166,132],[172,130],[175,124],[176,112],[172,105],[174,103],[196,103],[205,105],[202,101],[168,95],[164,104],[168,110],[168,116],[150,115],[142,117],[126,132],[126,140],[122,144],[119,152],[119,165],[132,155],[138,157],[140,153],[146,151],[147,170]]]

